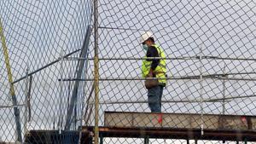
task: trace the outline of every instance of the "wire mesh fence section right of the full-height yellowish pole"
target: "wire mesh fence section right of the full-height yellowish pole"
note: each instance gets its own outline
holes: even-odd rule
[[[256,75],[253,59],[256,17],[253,1],[101,0],[98,10],[101,126],[108,125],[107,119],[113,123],[110,126],[129,127],[132,120],[129,121],[129,115],[121,117],[121,113],[150,112],[147,89],[144,88],[143,79],[140,79],[140,59],[146,52],[139,43],[139,38],[145,31],[154,33],[156,43],[165,50],[168,58],[166,66],[170,79],[162,97],[162,112],[199,115],[255,114],[253,88]],[[92,48],[93,45],[91,58],[94,54]],[[93,67],[89,71],[93,72]],[[92,73],[88,74],[90,79],[87,80],[93,80]],[[93,100],[89,103],[94,105]],[[119,112],[119,115],[106,118],[106,111]],[[136,119],[141,117],[143,116],[132,117],[135,120],[131,123],[136,123]],[[141,123],[145,123],[142,124],[143,127],[155,126],[148,123],[150,118],[145,119],[147,117],[141,119]],[[167,123],[173,121],[169,119]],[[176,123],[186,127],[183,124],[185,121],[185,118],[180,118]],[[205,129],[207,124],[217,123],[211,118],[198,118],[195,122],[199,129],[202,129],[202,123]],[[93,116],[90,124],[94,124]],[[143,139],[124,138],[104,138],[103,141],[144,142]],[[149,143],[186,142],[149,140]]]

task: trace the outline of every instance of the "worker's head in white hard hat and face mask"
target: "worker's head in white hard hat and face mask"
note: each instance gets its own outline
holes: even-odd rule
[[[140,43],[143,44],[143,49],[147,50],[148,47],[154,44],[154,37],[151,32],[144,32],[140,39]]]

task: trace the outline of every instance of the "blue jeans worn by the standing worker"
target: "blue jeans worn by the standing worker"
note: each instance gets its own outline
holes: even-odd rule
[[[160,85],[148,89],[148,106],[151,112],[161,112],[163,89],[164,87]]]

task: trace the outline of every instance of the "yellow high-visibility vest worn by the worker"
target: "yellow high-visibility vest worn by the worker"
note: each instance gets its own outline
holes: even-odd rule
[[[159,56],[163,59],[160,60],[160,63],[158,66],[156,66],[154,72],[156,73],[156,78],[164,78],[164,79],[158,79],[160,84],[166,84],[166,55],[163,49],[161,49],[158,45],[153,45],[159,54]],[[142,72],[143,72],[143,78],[146,78],[148,76],[148,72],[150,70],[152,61],[146,60],[147,56],[144,57],[143,60],[143,66],[142,66]]]

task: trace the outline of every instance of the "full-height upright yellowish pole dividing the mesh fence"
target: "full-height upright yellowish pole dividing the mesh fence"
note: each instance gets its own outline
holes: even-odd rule
[[[99,57],[98,57],[98,3],[94,0],[94,85],[95,85],[95,137],[94,143],[99,143]]]

